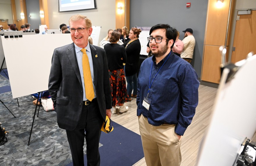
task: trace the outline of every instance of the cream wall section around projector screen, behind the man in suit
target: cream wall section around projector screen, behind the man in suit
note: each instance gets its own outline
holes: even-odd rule
[[[59,29],[60,25],[68,25],[69,18],[74,14],[83,14],[90,18],[93,26],[101,26],[99,42],[106,37],[109,29],[115,29],[115,0],[96,0],[97,9],[58,12],[58,1],[48,0],[50,29]],[[93,43],[94,45],[98,45]]]

